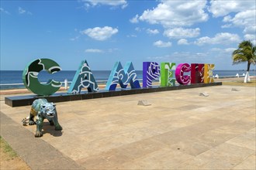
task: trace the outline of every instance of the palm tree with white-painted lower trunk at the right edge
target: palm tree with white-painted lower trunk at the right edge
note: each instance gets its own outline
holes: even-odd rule
[[[256,46],[251,41],[240,42],[238,49],[232,54],[233,64],[247,62],[247,72],[244,77],[244,83],[250,82],[249,70],[251,63],[256,63]]]

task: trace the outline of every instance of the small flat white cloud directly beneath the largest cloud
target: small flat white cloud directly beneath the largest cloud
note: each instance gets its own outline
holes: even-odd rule
[[[200,35],[200,29],[167,29],[164,31],[164,36],[167,36],[170,39],[182,39],[182,38],[193,38]]]

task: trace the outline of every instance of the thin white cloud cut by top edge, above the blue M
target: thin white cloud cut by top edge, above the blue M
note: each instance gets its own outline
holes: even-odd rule
[[[81,0],[85,2],[85,6],[96,6],[96,5],[109,5],[113,7],[121,6],[121,8],[126,8],[128,5],[126,0]]]

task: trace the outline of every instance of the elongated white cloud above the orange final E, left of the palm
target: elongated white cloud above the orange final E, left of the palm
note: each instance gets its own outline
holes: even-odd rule
[[[230,44],[234,42],[240,42],[240,37],[237,34],[231,34],[229,32],[217,33],[213,38],[208,36],[196,39],[195,44],[202,46],[205,44]]]

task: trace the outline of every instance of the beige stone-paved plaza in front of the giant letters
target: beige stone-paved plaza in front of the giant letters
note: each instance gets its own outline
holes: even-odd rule
[[[63,131],[45,121],[42,138],[33,137],[36,126],[22,127],[29,109],[1,101],[1,135],[33,169],[256,168],[255,87],[58,103]]]

